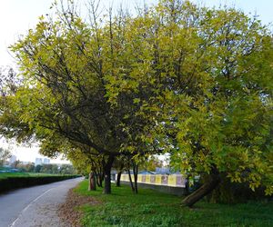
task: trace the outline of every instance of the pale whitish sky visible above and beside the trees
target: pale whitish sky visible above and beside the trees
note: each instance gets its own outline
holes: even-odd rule
[[[15,65],[15,61],[8,54],[8,45],[15,43],[18,35],[24,35],[28,29],[33,28],[40,15],[45,15],[53,0],[0,0],[0,65]],[[108,7],[113,5],[123,5],[134,7],[136,2],[143,3],[143,0],[101,0],[102,5]],[[147,0],[147,4],[156,3],[157,0]],[[203,5],[235,5],[237,8],[252,15],[259,15],[263,24],[273,21],[273,0],[195,0]],[[7,146],[0,141],[0,146]],[[13,145],[15,155],[22,161],[34,161],[38,147],[23,148]],[[57,161],[58,162],[58,161]]]

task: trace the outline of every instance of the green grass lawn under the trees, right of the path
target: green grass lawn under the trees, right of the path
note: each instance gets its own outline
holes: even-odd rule
[[[273,226],[273,202],[233,205],[197,202],[194,209],[181,207],[181,197],[140,189],[133,194],[128,186],[112,186],[112,194],[88,192],[87,181],[75,192],[94,196],[100,205],[85,205],[84,226]]]

